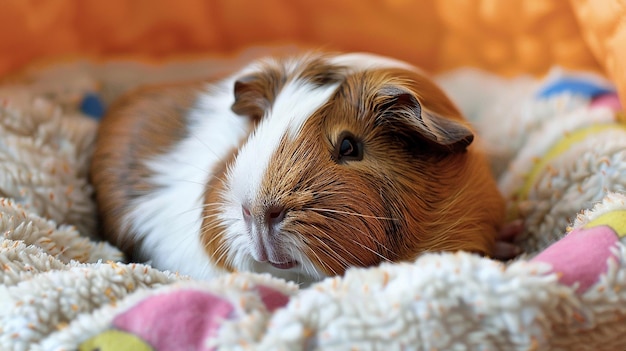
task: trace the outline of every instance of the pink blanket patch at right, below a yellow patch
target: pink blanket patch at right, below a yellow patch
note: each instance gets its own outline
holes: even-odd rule
[[[614,257],[611,248],[619,238],[608,226],[577,229],[552,244],[531,262],[546,262],[552,265],[563,284],[574,285],[578,293],[584,293],[607,271],[609,257]]]

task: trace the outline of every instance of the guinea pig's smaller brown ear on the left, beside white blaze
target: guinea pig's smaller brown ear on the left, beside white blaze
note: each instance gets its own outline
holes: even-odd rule
[[[231,109],[238,115],[260,120],[272,106],[284,78],[276,72],[256,72],[235,81],[235,102]]]

